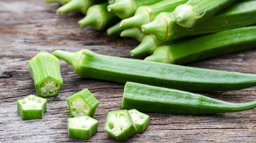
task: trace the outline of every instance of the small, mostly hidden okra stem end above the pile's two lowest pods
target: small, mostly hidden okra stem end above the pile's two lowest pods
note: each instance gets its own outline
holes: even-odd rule
[[[128,28],[128,29],[123,30],[121,32],[120,36],[135,38],[136,40],[141,42],[143,37],[145,36],[145,34],[141,33],[138,28],[133,27],[133,28]]]

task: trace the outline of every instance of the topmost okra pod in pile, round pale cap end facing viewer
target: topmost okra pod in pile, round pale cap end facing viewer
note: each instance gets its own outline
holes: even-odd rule
[[[173,11],[174,19],[180,26],[190,28],[194,24],[213,16],[236,1],[237,0],[189,0],[187,3],[175,8]]]

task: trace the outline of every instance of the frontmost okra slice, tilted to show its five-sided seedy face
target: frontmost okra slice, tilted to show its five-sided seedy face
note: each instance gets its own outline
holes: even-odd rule
[[[124,141],[136,132],[136,127],[127,110],[118,110],[108,112],[104,130],[118,141]]]

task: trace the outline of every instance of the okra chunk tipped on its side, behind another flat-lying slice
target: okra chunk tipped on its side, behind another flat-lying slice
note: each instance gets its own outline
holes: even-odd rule
[[[93,117],[99,102],[88,89],[81,90],[68,98],[71,117],[89,115]]]

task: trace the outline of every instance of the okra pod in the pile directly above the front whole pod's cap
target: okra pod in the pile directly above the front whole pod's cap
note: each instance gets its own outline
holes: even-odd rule
[[[96,30],[103,30],[120,21],[115,13],[107,11],[107,6],[108,3],[91,6],[87,15],[78,24],[81,27],[91,25]]]

